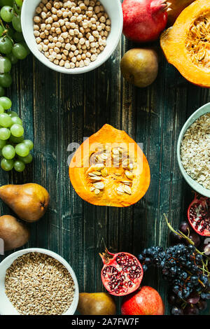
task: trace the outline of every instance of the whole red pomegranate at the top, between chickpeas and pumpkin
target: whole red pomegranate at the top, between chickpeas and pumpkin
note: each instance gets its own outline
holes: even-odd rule
[[[167,25],[166,0],[124,0],[123,34],[135,42],[155,41]]]

